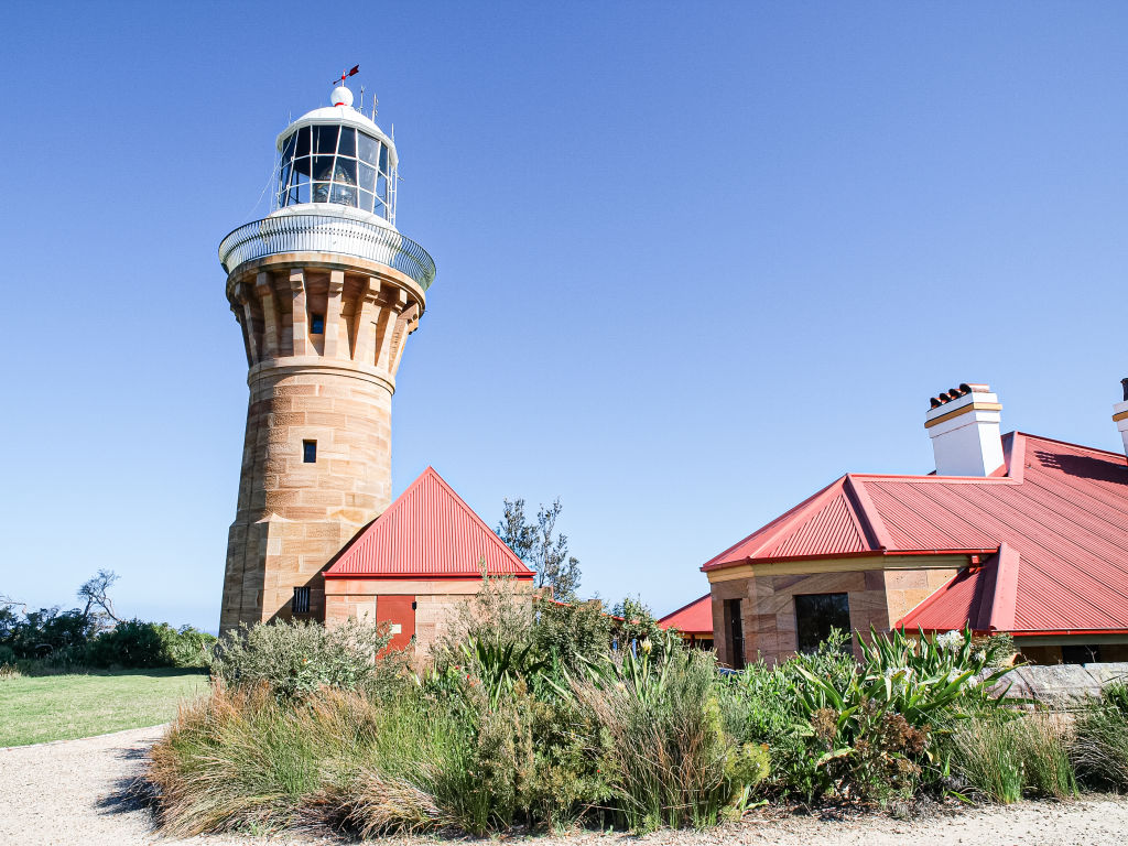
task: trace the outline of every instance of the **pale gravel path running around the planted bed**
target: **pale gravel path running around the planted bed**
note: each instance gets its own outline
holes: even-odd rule
[[[134,729],[83,740],[0,749],[0,844],[127,846],[161,843],[149,813],[124,795],[161,729]],[[537,846],[634,844],[750,844],[755,846],[1104,846],[1128,835],[1128,799],[1026,802],[913,822],[881,816],[828,821],[791,817],[751,819],[707,832],[662,831],[642,838],[584,832],[538,838]],[[202,837],[177,843],[249,846],[254,838]],[[272,840],[285,843],[285,840]],[[293,841],[290,841],[293,843]],[[302,846],[312,840],[301,841]],[[320,840],[316,843],[338,843]],[[387,846],[408,843],[388,838]],[[412,838],[409,843],[434,844]]]

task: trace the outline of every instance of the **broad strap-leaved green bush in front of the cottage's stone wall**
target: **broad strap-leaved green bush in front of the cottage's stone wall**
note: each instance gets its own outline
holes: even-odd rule
[[[774,790],[813,803],[907,796],[943,772],[933,728],[969,707],[989,708],[998,650],[969,632],[917,638],[871,632],[861,664],[832,633],[812,654],[776,668],[754,664],[726,690],[725,722],[746,742],[767,743]]]

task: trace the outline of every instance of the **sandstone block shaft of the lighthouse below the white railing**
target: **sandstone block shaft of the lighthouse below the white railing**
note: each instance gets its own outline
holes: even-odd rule
[[[385,265],[324,253],[248,262],[227,293],[249,400],[220,629],[290,617],[302,587],[324,619],[321,571],[391,501],[395,374],[424,294]]]

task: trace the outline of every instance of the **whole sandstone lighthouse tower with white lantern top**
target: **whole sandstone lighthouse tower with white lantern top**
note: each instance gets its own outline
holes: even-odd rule
[[[221,632],[321,619],[321,570],[391,499],[391,395],[434,263],[396,229],[395,143],[343,82],[279,135],[276,210],[219,247],[250,388]]]

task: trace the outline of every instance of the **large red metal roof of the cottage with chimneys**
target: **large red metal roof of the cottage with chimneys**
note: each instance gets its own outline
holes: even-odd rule
[[[1128,629],[1128,461],[1020,432],[1004,438],[1004,450],[1006,467],[987,478],[843,476],[702,570],[978,554],[987,558],[982,567],[961,572],[899,624],[959,628],[995,620],[996,631],[1016,634]],[[1007,605],[1013,620],[992,616]]]

